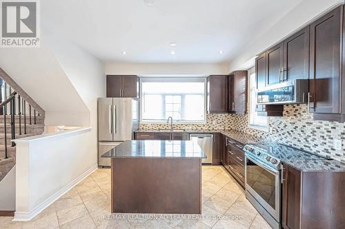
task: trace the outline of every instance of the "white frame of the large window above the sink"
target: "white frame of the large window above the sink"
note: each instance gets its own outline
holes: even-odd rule
[[[183,77],[184,80],[188,81],[188,80],[195,80],[195,76],[174,76],[174,77],[163,77],[163,76],[139,76],[139,89],[140,89],[140,104],[139,104],[139,123],[141,124],[166,124],[166,122],[148,122],[148,121],[143,121],[143,90],[142,90],[142,85],[143,85],[143,79],[147,79],[147,78],[152,78],[152,79],[157,79],[157,78],[164,78],[164,80],[174,80],[176,78],[179,77]],[[203,121],[175,121],[173,120],[173,124],[206,124],[207,120],[206,120],[206,114],[207,114],[207,76],[199,76],[198,78],[204,78],[204,120]],[[162,80],[162,81],[164,81]]]

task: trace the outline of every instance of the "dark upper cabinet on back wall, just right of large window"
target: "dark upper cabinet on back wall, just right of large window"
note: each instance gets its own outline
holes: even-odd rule
[[[228,112],[228,76],[212,75],[207,78],[208,113]]]

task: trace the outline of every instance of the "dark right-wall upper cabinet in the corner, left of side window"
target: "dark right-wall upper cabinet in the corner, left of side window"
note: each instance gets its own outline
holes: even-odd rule
[[[235,71],[228,76],[228,111],[245,114],[247,109],[248,71]]]

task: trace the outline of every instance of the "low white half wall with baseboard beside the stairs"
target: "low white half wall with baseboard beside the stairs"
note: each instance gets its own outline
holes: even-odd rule
[[[21,138],[17,144],[16,212],[28,221],[97,168],[90,128]]]

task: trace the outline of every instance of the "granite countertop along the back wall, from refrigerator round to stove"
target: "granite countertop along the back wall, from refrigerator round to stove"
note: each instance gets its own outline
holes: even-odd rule
[[[158,129],[138,129],[135,132],[161,132],[164,133],[164,131],[159,131]],[[166,131],[169,132],[169,131]],[[242,131],[235,131],[235,130],[221,130],[221,129],[185,129],[185,131],[181,132],[173,132],[173,133],[222,133],[226,135],[228,138],[232,138],[233,140],[240,142],[242,144],[257,144],[262,143],[263,140],[260,138],[257,138],[253,135],[250,135],[249,133],[244,133]]]

